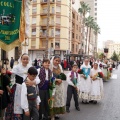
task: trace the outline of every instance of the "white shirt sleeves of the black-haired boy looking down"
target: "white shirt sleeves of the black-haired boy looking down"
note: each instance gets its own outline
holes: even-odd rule
[[[39,105],[39,103],[41,102],[39,96],[37,96],[36,102],[37,102],[37,105]],[[25,82],[22,84],[22,90],[21,90],[21,108],[25,112],[29,111],[29,104],[27,99],[27,87]]]

